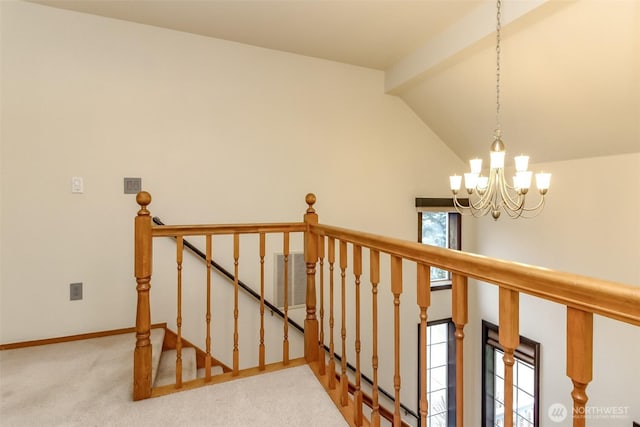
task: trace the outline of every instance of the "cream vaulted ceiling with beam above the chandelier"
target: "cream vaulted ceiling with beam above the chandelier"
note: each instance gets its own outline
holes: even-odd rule
[[[369,67],[466,160],[496,123],[494,0],[36,0]],[[640,0],[502,0],[508,153],[640,152]],[[509,156],[510,157],[510,156]]]

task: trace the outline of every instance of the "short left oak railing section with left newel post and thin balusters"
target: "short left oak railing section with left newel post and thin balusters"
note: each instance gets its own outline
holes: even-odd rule
[[[244,224],[240,226],[235,225],[196,225],[196,226],[169,226],[169,225],[156,225],[152,224],[151,215],[147,207],[151,203],[151,196],[149,193],[141,192],[137,195],[136,200],[140,205],[140,210],[135,219],[135,275],[137,281],[138,292],[138,304],[137,304],[137,316],[136,316],[136,348],[134,351],[134,400],[146,399],[154,395],[165,394],[171,392],[167,387],[161,387],[158,391],[154,392],[151,384],[151,347],[149,341],[149,323],[151,319],[150,313],[150,298],[149,292],[151,289],[151,275],[152,275],[152,259],[153,259],[153,239],[155,237],[173,237],[176,239],[176,271],[177,271],[177,295],[176,295],[176,379],[174,389],[192,388],[198,385],[204,385],[212,382],[211,366],[212,366],[212,342],[211,342],[211,295],[212,295],[212,283],[211,283],[211,259],[212,259],[212,246],[213,237],[217,235],[229,235],[233,239],[233,259],[234,259],[234,274],[233,274],[233,348],[231,349],[232,364],[230,376],[238,375],[254,375],[260,371],[272,371],[278,369],[278,366],[297,366],[300,364],[299,360],[292,360],[289,356],[289,339],[288,339],[288,322],[286,321],[287,312],[285,308],[285,322],[283,330],[282,340],[282,360],[281,362],[272,363],[267,365],[265,362],[265,341],[264,341],[264,315],[265,315],[265,300],[264,300],[264,272],[261,275],[261,295],[260,295],[260,342],[257,343],[258,357],[255,368],[240,367],[240,316],[239,312],[239,268],[240,268],[240,235],[242,234],[255,234],[259,236],[260,245],[260,265],[264,266],[265,256],[265,236],[267,234],[281,234],[283,236],[283,244],[285,253],[288,253],[289,249],[289,235],[290,233],[304,233],[306,226],[304,222],[297,223],[279,223],[279,224]],[[184,238],[186,236],[204,236],[206,245],[206,295],[207,300],[205,305],[205,329],[206,336],[204,337],[205,343],[205,376],[204,380],[193,380],[190,384],[183,382],[182,379],[182,343],[183,343],[183,307],[182,307],[182,290],[183,290],[183,253],[185,247]],[[286,257],[285,257],[286,258]],[[285,262],[286,263],[286,262]],[[286,268],[285,268],[286,271]],[[285,281],[288,278],[285,277]],[[285,284],[285,287],[287,284]],[[307,313],[307,319],[305,325],[313,325],[315,312],[309,311]],[[317,326],[316,326],[317,331]],[[313,327],[311,326],[311,330]],[[309,342],[318,342],[317,336]],[[311,356],[315,353],[317,357],[317,345],[311,348]],[[305,351],[307,351],[305,349]],[[301,359],[302,360],[302,359]],[[277,365],[277,366],[276,366]],[[216,380],[220,381],[220,380]],[[197,384],[196,384],[197,383]]]

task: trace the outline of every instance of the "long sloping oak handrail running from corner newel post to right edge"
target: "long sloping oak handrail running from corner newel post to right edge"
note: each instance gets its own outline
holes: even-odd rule
[[[311,232],[640,326],[640,287],[329,225]]]

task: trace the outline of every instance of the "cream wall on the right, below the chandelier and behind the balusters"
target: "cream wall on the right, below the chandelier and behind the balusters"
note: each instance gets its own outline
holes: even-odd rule
[[[535,168],[535,166],[534,166]],[[544,212],[535,219],[497,222],[482,219],[477,227],[479,253],[497,258],[576,272],[640,286],[640,201],[630,189],[640,184],[640,154],[590,158],[537,165],[553,173]],[[480,342],[480,319],[497,317],[497,290],[472,286],[469,299],[475,319],[468,338]],[[558,425],[548,407],[571,408],[571,381],[566,376],[566,310],[537,298],[520,297],[520,334],[541,343],[542,426]],[[467,354],[467,401],[475,401],[480,385],[480,349]],[[622,419],[590,419],[589,426],[631,425],[640,419],[640,328],[596,316],[594,379],[587,388],[589,406],[628,407]],[[480,417],[478,402],[471,419]]]

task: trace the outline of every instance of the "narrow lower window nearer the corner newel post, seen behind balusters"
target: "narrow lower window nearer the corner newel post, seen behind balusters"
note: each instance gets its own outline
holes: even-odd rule
[[[420,330],[419,328],[418,325],[418,330]],[[429,402],[427,427],[456,425],[454,332],[455,326],[451,319],[429,322],[427,325],[427,401]],[[418,354],[418,359],[420,359],[420,354]],[[420,366],[419,363],[420,361],[418,361],[418,366]],[[420,382],[418,381],[418,401],[420,401],[420,391]],[[419,412],[418,408],[417,413]]]

